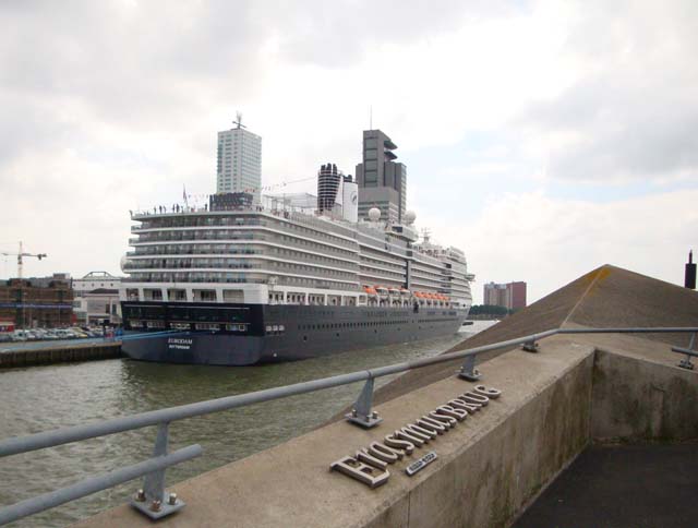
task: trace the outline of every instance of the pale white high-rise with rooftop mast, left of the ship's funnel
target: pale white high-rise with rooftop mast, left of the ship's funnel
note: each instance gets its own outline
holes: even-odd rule
[[[237,127],[218,132],[218,173],[216,192],[244,192],[258,203],[262,191],[262,137],[244,129],[241,116]]]

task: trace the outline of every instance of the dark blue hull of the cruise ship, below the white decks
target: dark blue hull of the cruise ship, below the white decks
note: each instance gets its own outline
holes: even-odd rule
[[[143,361],[246,365],[453,335],[450,308],[123,302],[122,350]],[[160,335],[172,331],[177,334]],[[148,335],[148,333],[152,335]],[[137,333],[141,337],[129,338]]]

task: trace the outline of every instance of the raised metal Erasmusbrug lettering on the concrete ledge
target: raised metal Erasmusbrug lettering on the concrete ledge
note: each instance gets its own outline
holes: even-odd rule
[[[351,477],[370,488],[385,484],[390,478],[388,466],[423,447],[440,434],[445,434],[462,422],[468,415],[484,409],[491,399],[502,395],[497,388],[477,385],[445,405],[388,434],[383,442],[372,442],[354,456],[345,456],[329,468]]]

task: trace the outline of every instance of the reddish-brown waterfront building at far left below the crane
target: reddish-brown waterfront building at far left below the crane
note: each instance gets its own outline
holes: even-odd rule
[[[16,328],[60,327],[73,323],[73,290],[68,274],[12,278],[0,283],[0,319]]]

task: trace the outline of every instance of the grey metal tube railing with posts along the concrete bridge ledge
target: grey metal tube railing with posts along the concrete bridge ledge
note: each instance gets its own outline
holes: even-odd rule
[[[457,375],[464,380],[476,382],[482,377],[482,373],[476,369],[476,360],[478,355],[484,352],[516,347],[519,345],[524,351],[538,352],[538,341],[540,339],[557,334],[667,333],[691,333],[693,336],[688,348],[675,347],[674,351],[687,356],[698,356],[698,351],[693,349],[694,344],[696,343],[698,327],[556,328],[431,358],[405,361],[375,369],[296,383],[292,385],[266,388],[253,393],[238,394],[234,396],[226,396],[194,404],[140,412],[95,423],[45,431],[27,436],[7,439],[0,442],[0,457],[56,447],[72,442],[107,436],[147,427],[157,427],[152,458],[132,466],[122,467],[106,473],[89,477],[75,484],[60,488],[58,490],[21,501],[16,504],[4,506],[0,508],[0,525],[12,523],[23,517],[91,495],[98,491],[113,488],[140,477],[144,477],[143,488],[139,489],[131,499],[131,504],[139,512],[154,520],[177,512],[184,506],[184,502],[174,493],[168,493],[165,490],[165,472],[167,468],[191,460],[192,458],[201,456],[203,453],[203,449],[198,444],[189,445],[174,452],[169,452],[169,427],[177,420],[184,420],[213,412],[221,412],[238,407],[287,398],[290,396],[323,391],[351,383],[364,382],[363,388],[361,389],[356,404],[351,411],[346,415],[346,418],[350,423],[369,429],[378,425],[382,421],[378,413],[373,410],[373,388],[374,381],[377,377],[461,359],[464,360],[464,363],[457,371]],[[690,368],[685,361],[682,361],[679,367]]]

